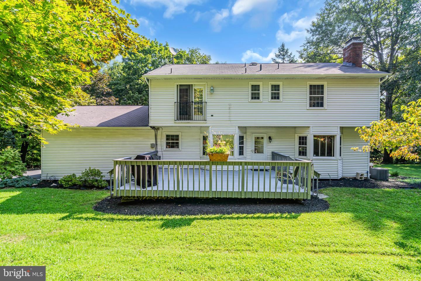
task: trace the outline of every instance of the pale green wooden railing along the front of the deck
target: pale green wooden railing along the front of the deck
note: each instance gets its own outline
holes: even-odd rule
[[[303,160],[214,162],[121,158],[114,160],[109,173],[114,197],[309,199],[315,192],[312,162]]]

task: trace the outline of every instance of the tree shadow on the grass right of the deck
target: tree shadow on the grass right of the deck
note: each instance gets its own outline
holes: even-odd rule
[[[330,195],[329,212],[349,213],[378,235],[397,229],[394,244],[408,255],[421,255],[421,190],[340,188]]]

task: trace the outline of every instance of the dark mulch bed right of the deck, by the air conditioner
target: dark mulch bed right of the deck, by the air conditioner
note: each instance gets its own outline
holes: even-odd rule
[[[357,188],[421,188],[419,183],[402,182],[402,179],[407,177],[389,177],[388,182],[378,181],[374,179],[332,179],[320,180],[319,188],[325,187],[357,187]]]

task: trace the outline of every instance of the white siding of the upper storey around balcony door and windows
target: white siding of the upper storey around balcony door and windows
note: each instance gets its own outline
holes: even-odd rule
[[[208,85],[206,123],[209,126],[357,127],[369,126],[378,120],[378,79],[325,79],[327,109],[307,110],[307,82],[313,80],[283,79],[282,102],[269,102],[269,80],[208,79],[195,83]],[[151,80],[150,126],[203,126],[174,121],[173,96],[177,81]],[[252,81],[262,83],[262,102],[249,102]],[[213,93],[209,93],[210,86],[214,88]]]

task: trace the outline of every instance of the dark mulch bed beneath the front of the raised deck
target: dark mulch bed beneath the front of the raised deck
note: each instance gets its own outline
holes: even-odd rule
[[[294,201],[284,199],[168,198],[121,202],[105,198],[93,209],[104,213],[126,215],[200,215],[200,214],[272,214],[324,211],[329,203],[320,198]]]

